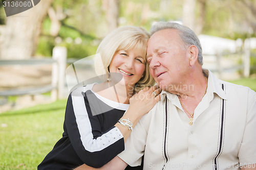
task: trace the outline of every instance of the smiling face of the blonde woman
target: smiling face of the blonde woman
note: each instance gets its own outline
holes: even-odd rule
[[[109,69],[123,76],[125,86],[134,87],[145,70],[143,53],[138,49],[119,50],[114,54]]]

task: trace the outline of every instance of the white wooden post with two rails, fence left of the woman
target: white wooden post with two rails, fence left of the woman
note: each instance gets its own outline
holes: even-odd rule
[[[11,88],[0,91],[0,96],[35,95],[51,92],[51,100],[63,98],[65,89],[65,70],[67,65],[67,49],[54,47],[52,58],[28,59],[28,60],[0,60],[0,66],[7,65],[44,65],[52,64],[51,84],[44,86],[28,87],[23,89]]]

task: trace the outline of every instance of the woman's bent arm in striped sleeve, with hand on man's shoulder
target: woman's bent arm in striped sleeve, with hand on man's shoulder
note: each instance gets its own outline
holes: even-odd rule
[[[156,90],[157,89],[157,90]],[[133,128],[138,120],[153,108],[160,95],[157,86],[146,88],[130,99],[130,108],[122,118],[130,119]],[[108,130],[102,131],[98,116],[89,111],[89,101],[82,95],[71,95],[66,108],[65,126],[78,157],[87,165],[101,167],[124,150],[124,141],[131,130],[118,123]],[[89,99],[88,99],[89,100]],[[113,123],[114,125],[114,123]]]

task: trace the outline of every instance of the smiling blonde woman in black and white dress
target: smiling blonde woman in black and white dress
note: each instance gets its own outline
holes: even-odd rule
[[[95,66],[107,81],[71,92],[63,137],[38,169],[101,167],[124,150],[139,119],[160,100],[146,63],[149,37],[143,28],[126,26],[102,40]]]

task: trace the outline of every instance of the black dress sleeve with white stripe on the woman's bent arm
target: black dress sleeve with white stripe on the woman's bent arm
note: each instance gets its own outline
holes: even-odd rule
[[[83,95],[69,95],[65,126],[72,146],[87,165],[101,167],[124,150],[124,140],[118,128],[101,131],[98,116],[88,112]]]

